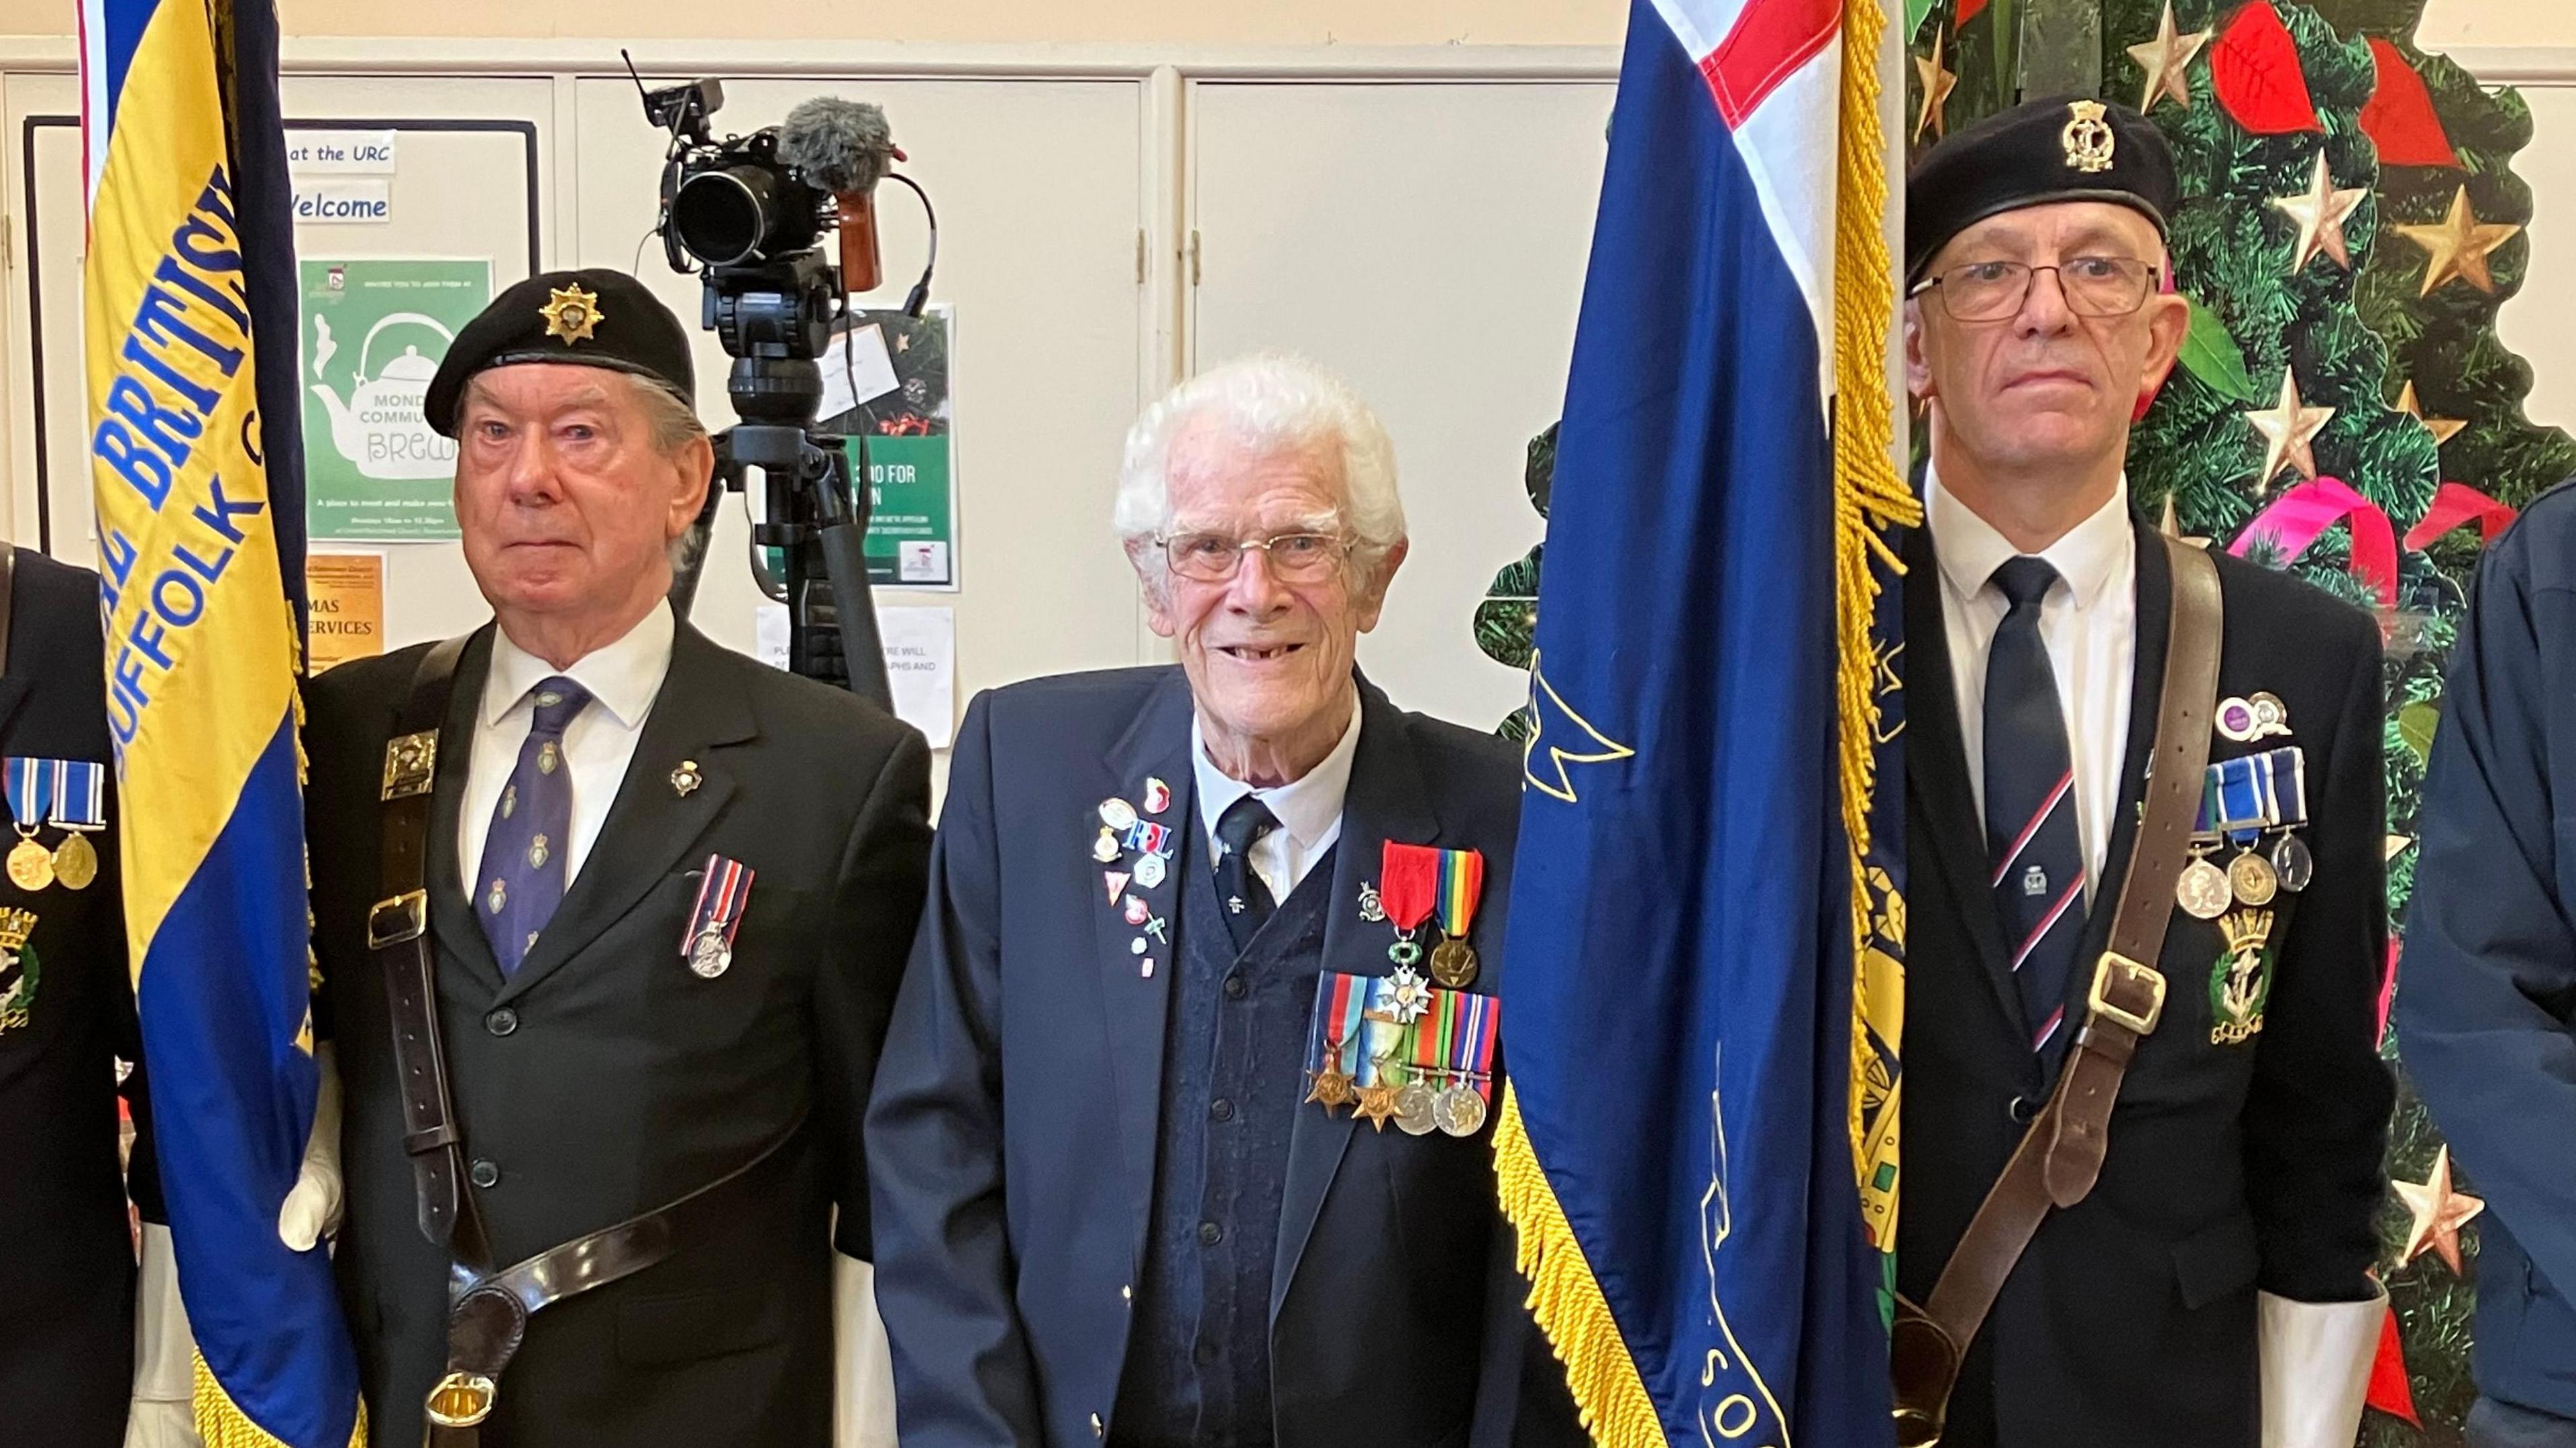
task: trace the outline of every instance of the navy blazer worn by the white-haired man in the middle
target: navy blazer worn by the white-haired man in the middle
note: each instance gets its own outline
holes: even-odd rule
[[[1476,989],[1492,992],[1517,750],[1399,711],[1365,683],[1360,709],[1324,969],[1391,969],[1388,928],[1363,922],[1358,904],[1383,840],[1476,848]],[[868,1116],[876,1299],[904,1448],[1115,1435],[1175,971],[1139,974],[1090,845],[1095,806],[1136,799],[1146,778],[1172,786],[1159,819],[1180,837],[1172,879],[1188,879],[1206,832],[1177,667],[984,693],[958,732],[930,904]],[[1298,1108],[1270,1296],[1278,1448],[1582,1443],[1520,1306],[1489,1131],[1417,1139]],[[1533,1427],[1551,1407],[1564,1438]]]

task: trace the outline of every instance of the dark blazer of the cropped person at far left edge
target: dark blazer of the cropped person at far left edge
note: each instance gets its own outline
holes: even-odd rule
[[[21,549],[0,752],[108,760],[103,678],[98,575]],[[44,1440],[64,1448],[124,1443],[134,1389],[134,1237],[116,1167],[116,1059],[142,1062],[142,1043],[113,804],[108,819],[90,835],[98,879],[88,889],[28,894],[0,873],[0,910],[36,915],[0,979],[8,997],[36,969],[28,1023],[0,1031],[0,1422],[44,1425]],[[46,845],[59,840],[59,830],[44,830]],[[0,850],[13,843],[0,840]],[[134,1198],[162,1221],[139,1067],[124,1090],[142,1131]]]

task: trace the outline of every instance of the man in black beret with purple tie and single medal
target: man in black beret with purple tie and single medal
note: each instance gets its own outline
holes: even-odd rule
[[[832,1440],[930,752],[672,618],[690,381],[631,276],[500,294],[425,399],[495,621],[307,693],[376,1443]]]

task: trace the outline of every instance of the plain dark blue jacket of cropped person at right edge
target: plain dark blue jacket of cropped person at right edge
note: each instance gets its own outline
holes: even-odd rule
[[[2486,1198],[2478,1391],[2576,1420],[2576,487],[2478,564],[2419,827],[2398,1049]]]

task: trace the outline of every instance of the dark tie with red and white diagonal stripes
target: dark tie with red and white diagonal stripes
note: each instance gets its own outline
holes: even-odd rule
[[[2058,582],[2043,559],[2009,559],[1994,587],[2012,605],[1986,654],[1986,861],[2012,951],[2030,1049],[2063,1046],[2066,984],[2084,935],[2084,837],[2058,678],[2040,639],[2040,600]]]

